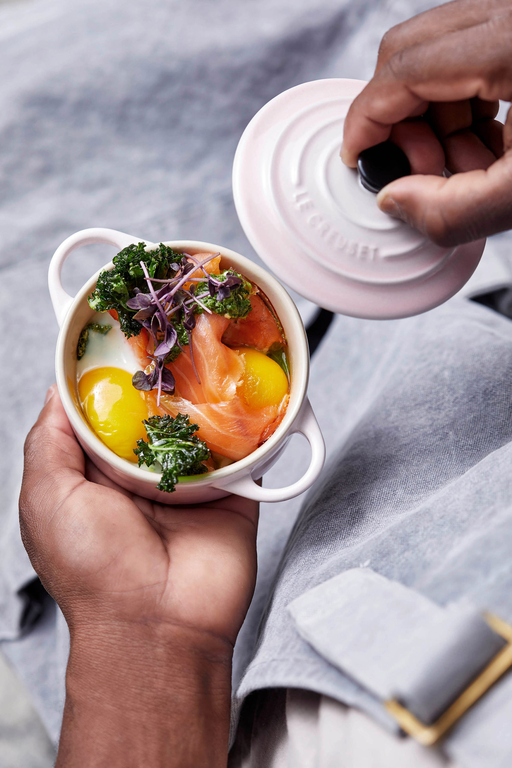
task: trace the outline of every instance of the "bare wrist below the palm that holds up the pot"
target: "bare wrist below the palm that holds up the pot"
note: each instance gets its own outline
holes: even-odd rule
[[[232,650],[170,624],[72,627],[57,766],[225,766]]]

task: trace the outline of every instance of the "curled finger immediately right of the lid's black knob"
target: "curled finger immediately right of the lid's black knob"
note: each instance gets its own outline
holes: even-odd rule
[[[435,174],[444,170],[444,151],[424,120],[404,121],[391,129],[391,141],[405,152],[412,174]]]

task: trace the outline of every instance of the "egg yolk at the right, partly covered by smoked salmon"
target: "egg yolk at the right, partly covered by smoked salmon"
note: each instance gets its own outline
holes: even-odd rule
[[[279,406],[289,392],[286,373],[275,360],[257,349],[248,346],[235,349],[245,362],[242,383],[236,390],[239,396],[251,408]]]

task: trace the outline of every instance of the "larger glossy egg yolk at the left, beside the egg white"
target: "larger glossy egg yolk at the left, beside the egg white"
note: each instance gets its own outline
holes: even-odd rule
[[[144,394],[121,368],[94,368],[78,382],[82,410],[107,448],[129,462],[137,462],[137,440],[146,439],[144,419],[149,418]]]

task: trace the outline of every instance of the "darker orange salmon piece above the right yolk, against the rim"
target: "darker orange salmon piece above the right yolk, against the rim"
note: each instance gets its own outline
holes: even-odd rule
[[[249,301],[253,309],[246,318],[231,320],[223,335],[223,344],[252,346],[253,349],[264,353],[267,353],[273,344],[285,344],[282,330],[263,299],[253,294]]]

